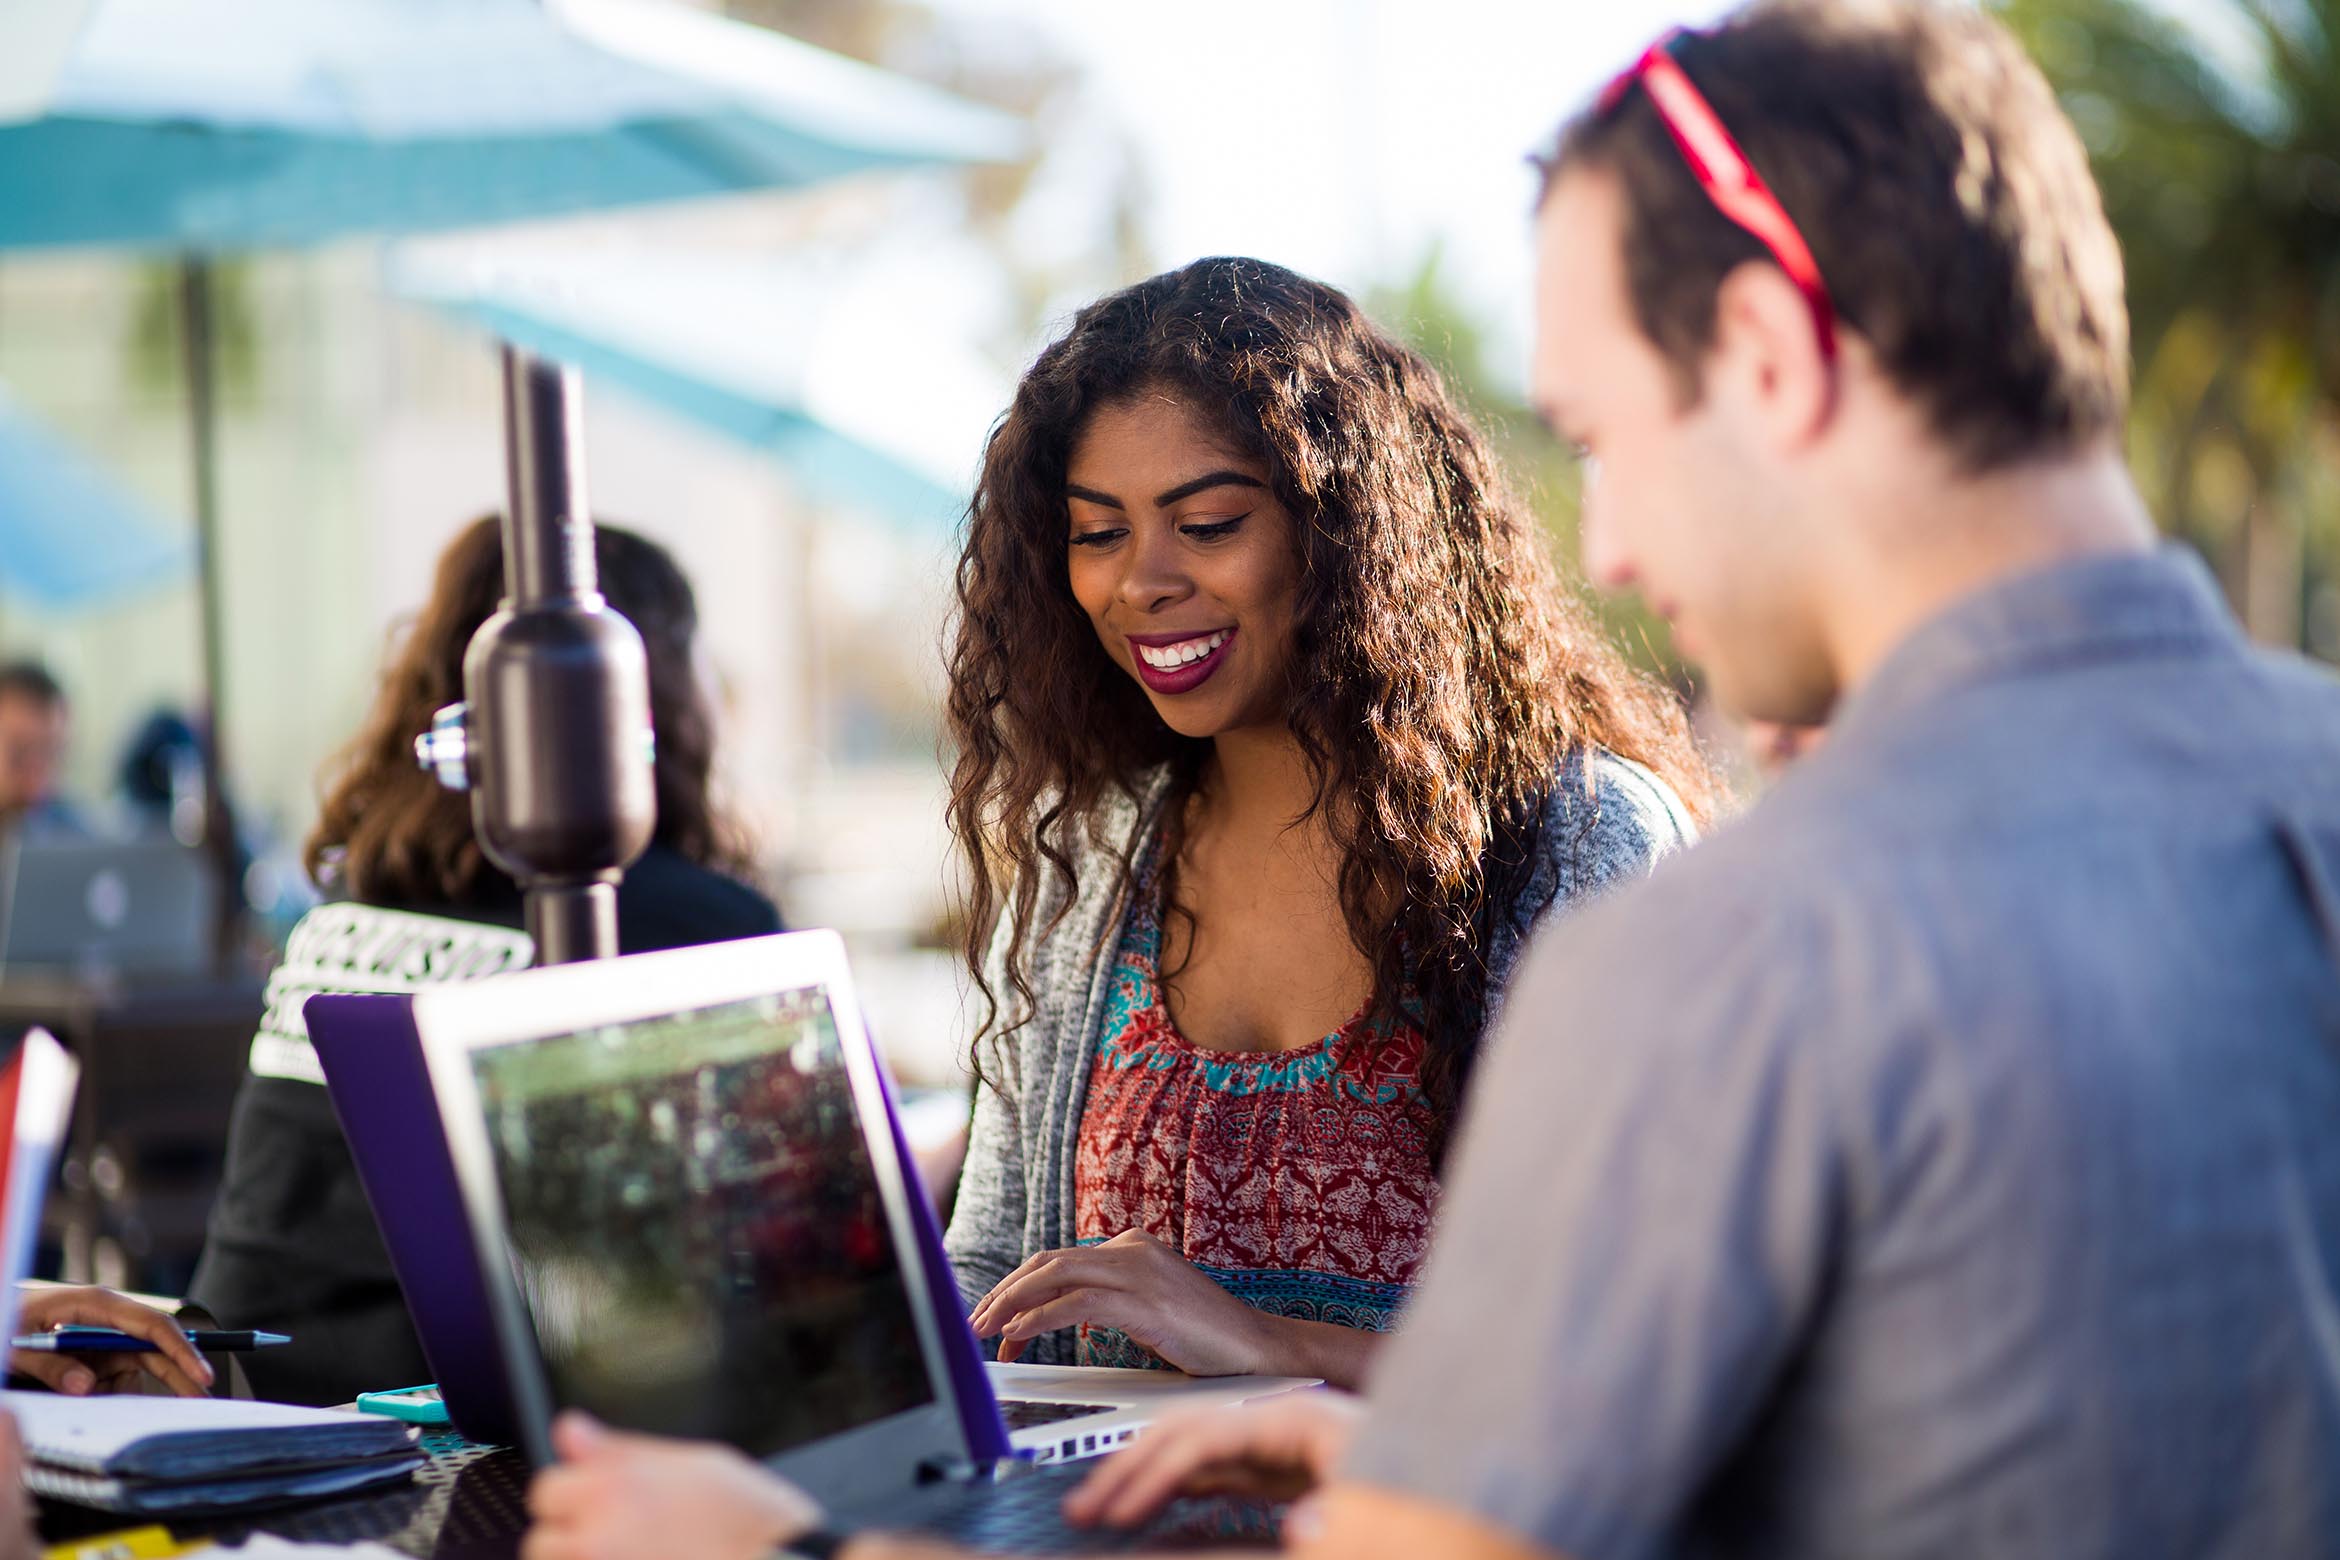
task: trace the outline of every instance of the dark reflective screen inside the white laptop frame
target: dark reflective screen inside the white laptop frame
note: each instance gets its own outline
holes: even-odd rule
[[[555,1403],[768,1457],[934,1401],[824,989],[470,1067]]]

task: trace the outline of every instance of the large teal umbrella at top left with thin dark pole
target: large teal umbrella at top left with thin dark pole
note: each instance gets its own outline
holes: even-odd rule
[[[222,739],[211,255],[1023,145],[1004,115],[662,0],[14,0],[0,117],[0,250],[183,255],[204,681]],[[508,360],[515,386],[526,372]],[[552,416],[529,458],[566,463],[569,421]],[[550,491],[519,470],[517,426],[510,458],[515,493]]]

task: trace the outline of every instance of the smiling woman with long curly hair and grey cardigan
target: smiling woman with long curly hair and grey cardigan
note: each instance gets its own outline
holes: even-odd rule
[[[1680,713],[1437,374],[1257,260],[1041,353],[957,587],[971,1321],[1355,1382],[1521,938],[1704,814]]]

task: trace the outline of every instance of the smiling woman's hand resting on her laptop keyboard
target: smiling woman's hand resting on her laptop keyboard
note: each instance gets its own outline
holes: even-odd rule
[[[1114,1326],[1186,1375],[1268,1373],[1275,1317],[1252,1310],[1144,1230],[1041,1251],[999,1279],[966,1319],[1011,1361],[1060,1326]]]

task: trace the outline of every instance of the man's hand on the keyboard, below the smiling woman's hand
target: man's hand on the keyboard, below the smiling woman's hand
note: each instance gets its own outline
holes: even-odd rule
[[[1346,1392],[1285,1392],[1163,1415],[1065,1497],[1065,1520],[1135,1527],[1177,1495],[1299,1499],[1331,1473],[1362,1413]]]

